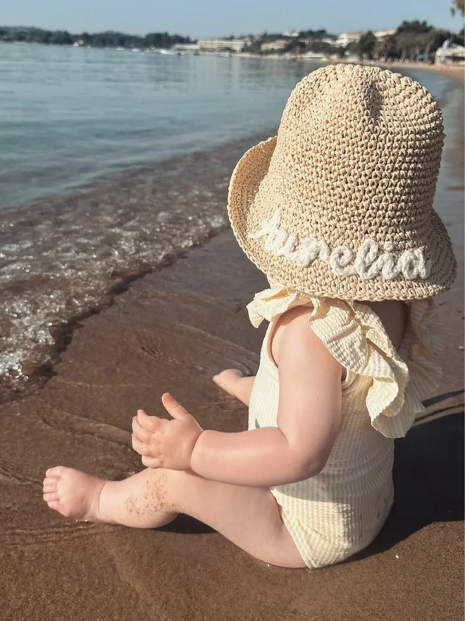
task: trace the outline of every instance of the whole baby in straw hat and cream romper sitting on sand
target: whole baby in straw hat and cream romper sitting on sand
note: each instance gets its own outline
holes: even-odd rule
[[[433,296],[456,274],[433,210],[443,138],[410,78],[350,65],[304,78],[230,183],[237,241],[270,282],[248,306],[269,322],[256,377],[213,378],[249,406],[248,430],[203,430],[165,393],[169,420],[132,419],[146,469],[103,481],[56,466],[49,507],[137,528],[186,513],[282,567],[366,548],[392,507],[394,438],[440,379]]]

